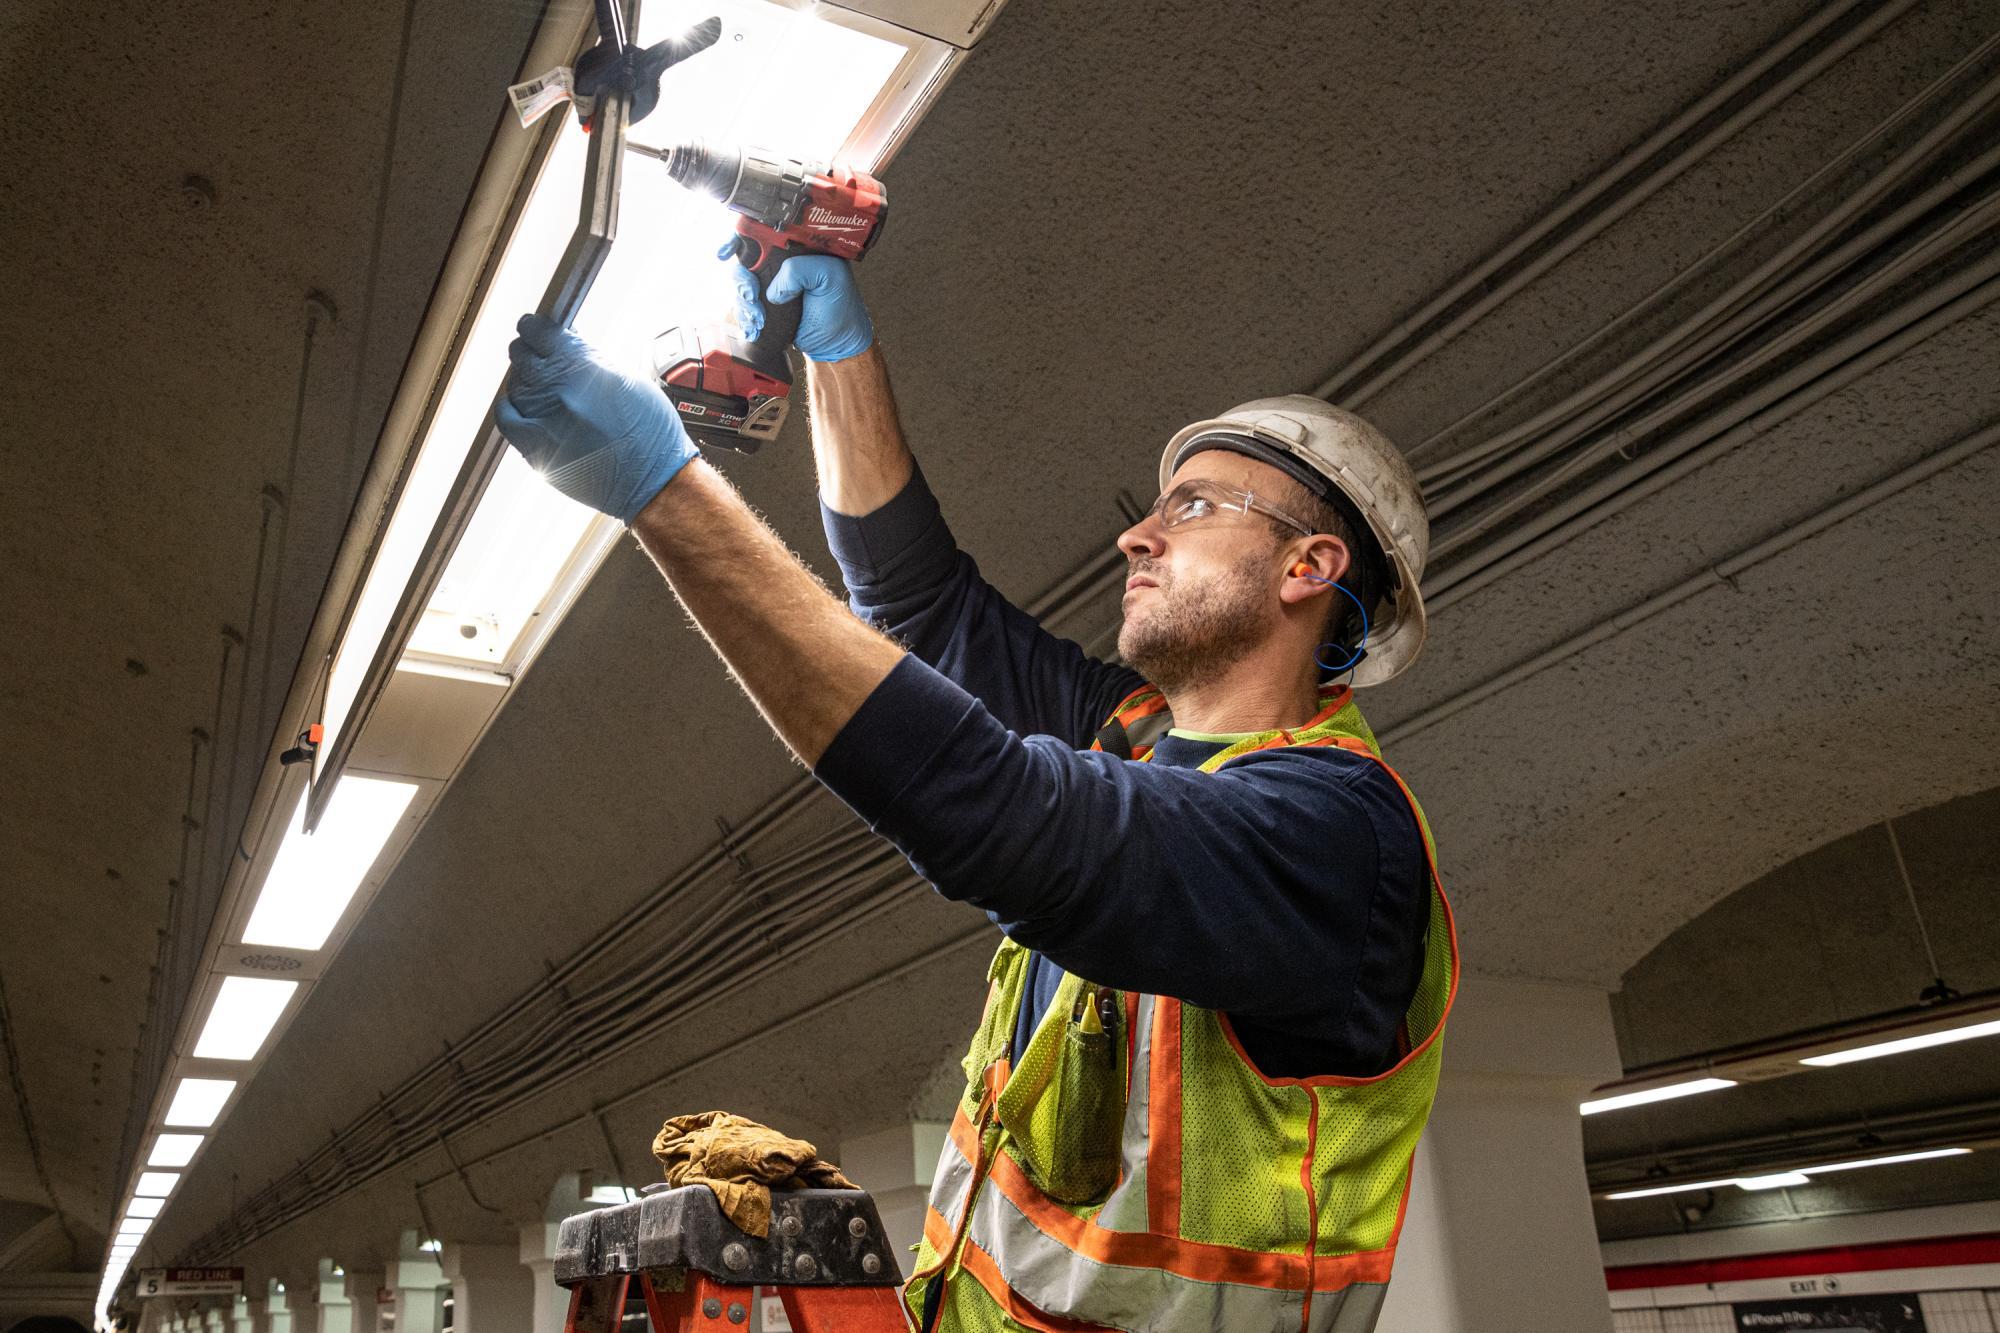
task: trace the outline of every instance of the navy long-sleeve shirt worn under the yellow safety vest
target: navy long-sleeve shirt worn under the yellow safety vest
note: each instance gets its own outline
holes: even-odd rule
[[[922,474],[824,510],[850,604],[904,658],[816,775],[948,899],[1036,953],[1028,1031],[1062,971],[1230,1017],[1266,1077],[1372,1075],[1422,969],[1430,873],[1380,765],[1172,731],[1150,763],[1086,747],[1142,685],[1042,630],[958,550]]]

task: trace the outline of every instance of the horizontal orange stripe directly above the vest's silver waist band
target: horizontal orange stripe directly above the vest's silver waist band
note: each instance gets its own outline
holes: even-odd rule
[[[978,1139],[964,1133],[964,1121],[952,1121],[952,1143],[968,1159],[978,1151]],[[976,1159],[974,1159],[976,1161]],[[1148,1167],[1148,1175],[1150,1175]],[[1050,1201],[1006,1151],[996,1151],[986,1179],[1034,1227],[1094,1263],[1116,1263],[1134,1269],[1160,1269],[1198,1283],[1240,1283],[1246,1287],[1282,1287],[1304,1291],[1308,1279],[1316,1291],[1342,1291],[1354,1283],[1386,1283],[1396,1259],[1394,1247],[1368,1249],[1352,1255],[1318,1255],[1308,1265],[1306,1255],[1274,1255],[1260,1249],[1236,1249],[1208,1241],[1154,1235],[1146,1231],[1106,1231],[1088,1217],[1078,1217]]]

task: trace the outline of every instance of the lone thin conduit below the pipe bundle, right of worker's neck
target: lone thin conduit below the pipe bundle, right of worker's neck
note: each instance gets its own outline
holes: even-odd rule
[[[1690,574],[1680,582],[1676,582],[1674,586],[1656,592],[1642,602],[1626,606],[1618,614],[1598,620],[1580,634],[1572,634],[1570,638],[1564,638],[1562,642],[1552,644],[1542,652],[1536,652],[1534,656],[1516,662],[1514,666],[1508,666],[1506,671],[1494,677],[1488,677],[1486,681],[1474,685],[1468,691],[1460,691],[1458,695],[1452,695],[1450,699],[1436,703],[1424,709],[1422,713],[1414,713],[1406,719],[1400,719],[1398,723],[1382,731],[1382,739],[1404,741],[1408,737],[1414,737],[1430,727],[1436,727],[1454,713],[1462,713],[1476,703],[1492,699],[1504,689],[1520,685],[1522,681],[1542,671],[1548,671],[1550,666],[1566,658],[1572,658],[1586,648],[1592,648],[1616,634],[1622,634],[1624,630],[1636,624],[1650,620],[1662,610],[1678,606],[1680,602],[1688,600],[1698,592],[1706,592],[1708,588],[1728,586],[1732,578],[1756,568],[1764,560],[1770,560],[1772,556],[1790,550],[1792,546],[1812,536],[1818,536],[1826,528],[1832,528],[1834,524],[1844,522],[1854,514],[1860,514],[1862,510],[1868,510],[1880,504],[1882,500],[1888,500],[1890,496],[1908,490],[1910,486],[1930,480],[1938,472],[1944,472],[1946,468],[1956,466],[1994,444],[2000,444],[2000,422],[1984,426],[1974,434],[1968,434],[1952,444],[1946,444],[1936,452],[1922,456],[1910,466],[1900,468],[1876,480],[1874,484],[1856,490],[1854,494],[1842,500],[1836,500],[1834,504],[1828,504],[1826,508],[1810,514],[1808,518],[1802,518],[1798,522],[1780,528],[1778,532],[1766,536],[1764,540],[1752,546],[1744,546],[1736,554],[1716,560],[1702,572]]]

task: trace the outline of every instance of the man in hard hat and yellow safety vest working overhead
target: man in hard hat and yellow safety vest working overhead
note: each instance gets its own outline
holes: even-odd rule
[[[632,526],[778,737],[1006,937],[912,1323],[1374,1327],[1458,973],[1422,813],[1342,683],[1424,644],[1408,464],[1304,396],[1178,432],[1118,538],[1130,666],[1090,660],[952,542],[852,270],[792,258],[770,298],[804,300],[852,610],[650,380],[538,316],[500,426]]]

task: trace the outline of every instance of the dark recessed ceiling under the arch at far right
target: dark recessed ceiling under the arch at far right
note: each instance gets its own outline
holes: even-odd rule
[[[1968,997],[2000,989],[2000,789],[1892,827],[1894,843],[1890,823],[1876,823],[1760,875],[1640,959],[1612,1001],[1626,1069],[1910,1011],[1940,977]],[[1584,1121],[1584,1143],[1594,1165],[1728,1161],[1732,1145],[1822,1135],[1866,1157],[1864,1135],[1920,1119],[1958,1119],[1960,1137],[1978,1141],[1988,1133],[1980,1125],[2000,1117],[1994,1053],[1986,1037],[1604,1113]],[[1628,1237],[1684,1229],[1678,1209],[1688,1203],[1708,1207],[1700,1225],[1716,1227],[1996,1193],[2000,1153],[1976,1151],[1772,1195],[1724,1189],[1712,1205],[1700,1195],[1602,1201],[1598,1223],[1606,1237]]]

